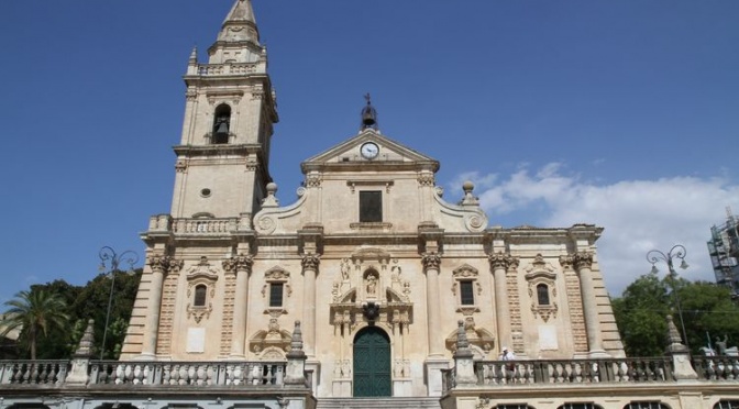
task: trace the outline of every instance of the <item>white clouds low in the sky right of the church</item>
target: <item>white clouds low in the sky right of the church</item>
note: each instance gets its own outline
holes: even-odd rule
[[[578,175],[565,175],[562,164],[551,163],[533,173],[527,168],[508,177],[470,173],[457,181],[464,179],[477,185],[475,195],[490,224],[506,225],[500,223],[505,219],[510,221],[507,226],[564,228],[587,222],[605,228],[598,254],[613,296],[619,296],[650,269],[647,252],[666,252],[677,243],[687,248],[691,265],[679,273],[688,279],[713,281],[706,250],[710,226],[725,221],[727,206],[739,209],[739,186],[724,178],[672,177],[597,185]],[[666,266],[658,268],[666,270]]]

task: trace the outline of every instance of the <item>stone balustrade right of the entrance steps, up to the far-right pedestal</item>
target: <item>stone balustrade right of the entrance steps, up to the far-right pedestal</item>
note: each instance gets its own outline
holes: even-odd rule
[[[672,358],[593,358],[475,362],[478,386],[673,382]],[[456,387],[455,371],[442,374],[444,390]]]

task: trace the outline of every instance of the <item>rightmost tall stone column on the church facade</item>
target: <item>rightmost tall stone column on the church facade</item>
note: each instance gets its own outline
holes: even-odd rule
[[[598,318],[598,303],[595,298],[595,287],[593,285],[593,254],[580,252],[573,255],[575,272],[580,276],[580,291],[583,298],[583,313],[585,316],[585,329],[587,330],[587,345],[591,356],[603,356],[606,352],[603,349],[600,339],[600,319]]]

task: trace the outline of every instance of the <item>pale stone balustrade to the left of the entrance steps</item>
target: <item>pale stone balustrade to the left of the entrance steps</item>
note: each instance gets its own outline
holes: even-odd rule
[[[0,362],[2,385],[64,385],[68,361]],[[92,361],[88,385],[242,386],[284,385],[285,362],[118,362]]]

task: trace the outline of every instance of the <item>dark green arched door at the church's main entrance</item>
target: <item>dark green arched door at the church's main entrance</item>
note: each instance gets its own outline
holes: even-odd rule
[[[390,339],[377,327],[354,339],[354,396],[393,396]]]

